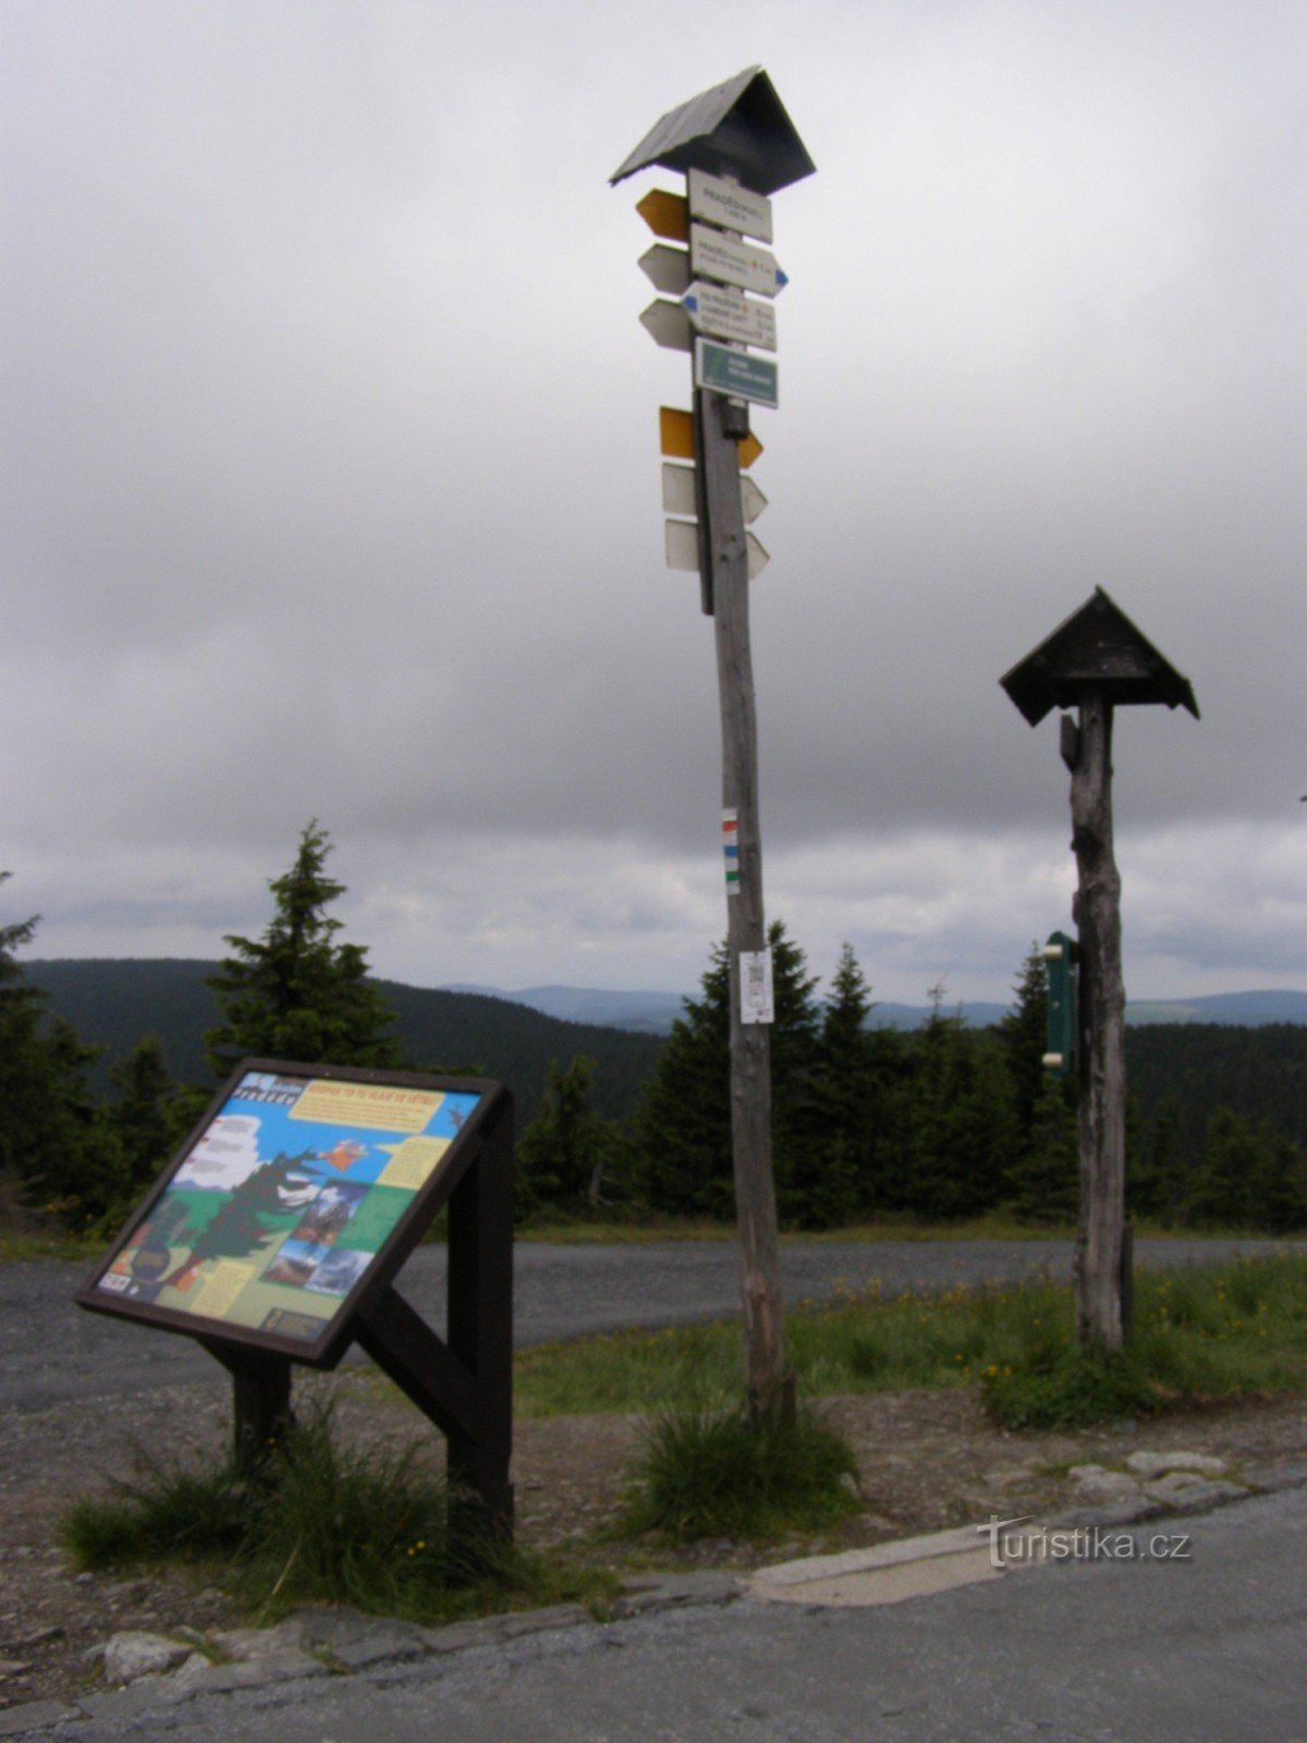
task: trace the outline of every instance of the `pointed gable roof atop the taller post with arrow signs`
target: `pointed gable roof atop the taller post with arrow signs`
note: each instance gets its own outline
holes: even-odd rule
[[[746,66],[723,85],[669,110],[610,176],[610,183],[654,164],[735,176],[753,193],[775,193],[817,167],[762,66]]]

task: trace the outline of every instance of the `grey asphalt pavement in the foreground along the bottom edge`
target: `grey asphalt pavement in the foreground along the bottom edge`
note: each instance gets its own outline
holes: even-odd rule
[[[1183,1560],[1061,1562],[877,1609],[741,1600],[59,1724],[51,1743],[1302,1743],[1307,1490]],[[1155,1525],[1112,1532],[1147,1546]]]

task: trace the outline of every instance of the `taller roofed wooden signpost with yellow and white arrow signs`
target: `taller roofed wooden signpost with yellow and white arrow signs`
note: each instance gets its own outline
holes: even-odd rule
[[[775,296],[784,274],[746,237],[772,239],[769,195],[809,176],[814,162],[781,106],[770,78],[751,66],[727,84],[671,110],[613,174],[622,181],[652,166],[683,171],[687,197],[654,190],[638,211],[669,241],[688,241],[683,268],[662,248],[641,267],[660,289],[694,282],[692,305],[676,307],[687,326],[725,333],[727,343],[695,343],[694,417],[688,427],[662,415],[662,453],[694,462],[694,519],[669,523],[673,566],[697,566],[702,607],[714,621],[721,699],[721,807],[730,833],[727,950],[730,959],[730,1129],[744,1300],[744,1367],[755,1421],[793,1414],[793,1377],[784,1367],[781,1264],[772,1178],[770,985],[758,819],[758,727],[749,652],[749,570],[767,553],[746,532],[741,467],[760,453],[748,403],[777,403],[777,370],[746,345],[775,349],[770,307],[746,295]],[[690,221],[694,220],[694,221]],[[654,253],[654,251],[650,251]],[[655,277],[657,274],[657,277]],[[687,314],[688,309],[688,314]],[[643,319],[643,317],[641,317]],[[650,322],[645,322],[650,326]],[[655,315],[659,331],[683,329]],[[683,415],[681,415],[683,417]],[[676,479],[664,490],[680,490]],[[683,497],[676,497],[683,504]],[[749,518],[765,497],[748,497]],[[753,540],[753,549],[749,540]],[[697,563],[692,561],[697,558]],[[762,558],[762,561],[760,561]],[[746,997],[748,994],[748,997]]]

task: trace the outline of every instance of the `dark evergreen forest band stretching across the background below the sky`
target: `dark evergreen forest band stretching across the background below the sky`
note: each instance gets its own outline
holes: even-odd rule
[[[242,1055],[481,1074],[518,1102],[528,1217],[728,1218],[727,962],[666,1041],[566,1023],[479,994],[376,981],[335,939],[342,892],[310,824],[270,884],[261,939],[206,962],[31,962],[35,920],[0,927],[0,1187],[75,1225],[112,1220],[153,1178]],[[932,1000],[924,1028],[877,1027],[845,946],[819,999],[770,929],[774,1166],[782,1222],[830,1229],[992,1210],[1073,1217],[1075,1091],[1042,1070],[1046,971],[971,1028]],[[1307,1027],[1128,1032],[1129,1206],[1178,1225],[1307,1229]]]

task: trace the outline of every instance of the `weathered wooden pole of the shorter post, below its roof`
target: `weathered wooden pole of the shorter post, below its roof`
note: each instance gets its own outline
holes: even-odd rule
[[[1075,1325],[1080,1344],[1126,1339],[1126,987],[1121,973],[1121,875],[1112,845],[1112,704],[1086,688],[1079,730],[1065,734],[1072,767],[1072,849],[1080,939],[1079,1058],[1080,1220]]]

